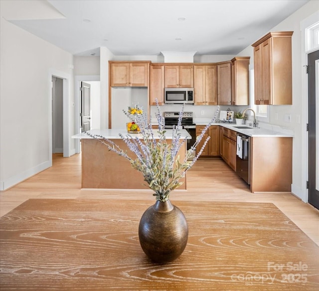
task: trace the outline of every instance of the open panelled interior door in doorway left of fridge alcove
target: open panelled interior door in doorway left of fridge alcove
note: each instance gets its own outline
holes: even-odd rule
[[[91,85],[81,82],[81,131],[91,129]]]

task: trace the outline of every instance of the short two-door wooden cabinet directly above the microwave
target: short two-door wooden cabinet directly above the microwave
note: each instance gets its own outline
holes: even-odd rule
[[[165,66],[165,88],[193,88],[194,66]]]

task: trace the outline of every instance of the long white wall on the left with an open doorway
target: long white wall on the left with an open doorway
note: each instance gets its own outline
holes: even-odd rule
[[[50,166],[49,72],[53,69],[73,75],[69,68],[73,56],[4,20],[3,2],[0,1],[0,190]],[[69,94],[72,104],[72,78]],[[73,120],[73,107],[66,109]],[[70,124],[72,132],[74,126]]]

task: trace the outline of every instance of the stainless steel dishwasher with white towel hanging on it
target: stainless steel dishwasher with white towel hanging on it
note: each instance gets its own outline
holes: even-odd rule
[[[237,134],[236,143],[236,172],[250,185],[250,137]]]

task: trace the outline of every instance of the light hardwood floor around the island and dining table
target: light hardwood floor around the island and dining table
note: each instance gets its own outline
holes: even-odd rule
[[[130,179],[130,177],[123,177]],[[81,155],[53,155],[53,167],[0,193],[0,216],[29,198],[91,198],[154,200],[151,190],[81,190]],[[187,190],[170,200],[271,202],[319,245],[319,210],[291,193],[252,194],[248,185],[222,160],[198,160],[187,172]]]

